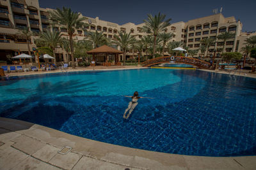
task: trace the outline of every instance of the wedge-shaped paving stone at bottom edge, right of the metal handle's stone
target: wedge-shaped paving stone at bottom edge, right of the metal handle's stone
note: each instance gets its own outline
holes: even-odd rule
[[[119,170],[119,169],[134,169],[130,167],[120,166],[116,164],[111,164],[109,162],[100,161],[97,159],[92,159],[90,157],[82,157],[76,166],[72,170],[78,169],[104,169],[104,170]],[[135,170],[135,169],[134,169]]]

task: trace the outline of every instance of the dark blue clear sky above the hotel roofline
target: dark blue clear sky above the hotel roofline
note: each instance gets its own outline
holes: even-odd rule
[[[141,24],[147,14],[163,13],[172,18],[171,23],[212,15],[212,10],[223,8],[224,17],[241,20],[243,31],[256,31],[256,0],[39,0],[41,8],[71,8],[86,17],[99,17],[122,25],[127,22]]]

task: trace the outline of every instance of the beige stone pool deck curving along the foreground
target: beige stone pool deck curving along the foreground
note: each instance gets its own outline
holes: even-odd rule
[[[0,117],[0,169],[256,169],[255,160],[151,152]]]

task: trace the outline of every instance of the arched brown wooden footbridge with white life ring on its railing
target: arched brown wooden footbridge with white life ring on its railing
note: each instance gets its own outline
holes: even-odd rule
[[[204,60],[200,59],[194,59],[191,57],[183,57],[183,56],[164,56],[164,57],[157,57],[155,59],[147,60],[143,63],[141,63],[141,66],[143,67],[150,67],[154,66],[156,64],[162,64],[162,63],[170,63],[170,61],[173,61],[175,64],[189,64],[192,66],[199,67],[200,69],[209,69],[211,64],[209,62],[205,62]]]

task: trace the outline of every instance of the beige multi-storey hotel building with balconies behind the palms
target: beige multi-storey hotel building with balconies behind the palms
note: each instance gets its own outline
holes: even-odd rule
[[[49,25],[50,8],[40,8],[38,0],[0,0],[0,61],[10,61],[11,57],[17,53],[28,53],[26,39],[19,36],[19,29],[28,27],[32,32],[45,31],[46,29],[58,30],[63,33],[63,37],[67,36],[67,30],[62,27],[52,27]],[[87,17],[87,16],[86,16]],[[145,16],[146,17],[146,16]],[[86,38],[88,31],[102,31],[104,36],[113,38],[118,31],[131,32],[136,39],[140,39],[147,33],[141,31],[142,24],[133,24],[131,22],[118,25],[113,22],[100,20],[99,17],[87,17],[92,22],[90,26],[83,29],[77,29],[74,39],[76,41]],[[84,22],[88,23],[88,20]],[[235,38],[228,39],[225,45],[227,52],[241,52],[244,46],[244,40],[255,33],[241,32],[242,24],[234,17],[225,18],[221,13],[210,15],[207,17],[196,18],[188,22],[172,23],[166,32],[173,32],[175,36],[170,41],[183,41],[189,49],[197,50],[200,41],[204,38],[216,38],[222,32],[228,31],[235,33]],[[31,51],[36,48],[34,36],[31,38]],[[120,47],[118,47],[120,49]],[[218,51],[223,48],[223,42],[218,40],[215,46],[209,48],[212,54],[214,49]],[[56,48],[57,61],[70,60],[68,55],[62,48]],[[132,55],[131,51],[127,55]],[[168,53],[166,53],[168,55]]]

